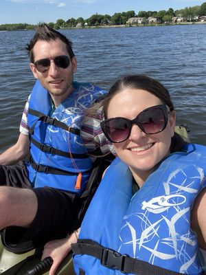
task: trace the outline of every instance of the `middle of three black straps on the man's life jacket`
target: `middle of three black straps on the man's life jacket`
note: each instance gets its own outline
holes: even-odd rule
[[[37,142],[36,140],[34,140],[33,137],[30,138],[30,141],[37,148],[39,148],[39,150],[41,150],[42,152],[53,154],[53,155],[61,155],[62,157],[69,157],[69,158],[71,157],[70,153],[58,150],[58,149],[56,149],[56,148],[54,148],[52,146],[48,146],[47,144],[42,144],[40,142]],[[73,153],[72,157],[74,157],[76,159],[86,159],[88,157],[88,155],[87,154],[76,154],[76,153]]]

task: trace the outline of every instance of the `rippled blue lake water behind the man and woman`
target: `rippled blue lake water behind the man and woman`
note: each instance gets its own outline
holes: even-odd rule
[[[160,80],[172,95],[178,123],[206,145],[206,25],[62,30],[78,60],[75,80],[104,89],[123,74]],[[14,144],[34,85],[25,45],[34,31],[0,32],[0,151]]]

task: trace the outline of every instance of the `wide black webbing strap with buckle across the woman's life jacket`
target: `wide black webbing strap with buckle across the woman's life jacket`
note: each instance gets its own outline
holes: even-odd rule
[[[163,267],[151,265],[145,261],[134,259],[126,254],[104,248],[99,243],[89,239],[79,239],[78,243],[71,245],[74,254],[87,254],[100,260],[101,265],[123,273],[137,275],[182,275],[172,270],[165,270]]]

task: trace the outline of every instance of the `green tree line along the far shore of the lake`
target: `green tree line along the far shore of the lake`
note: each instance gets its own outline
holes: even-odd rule
[[[135,14],[134,10],[128,12],[115,12],[112,16],[108,14],[93,14],[88,19],[83,19],[78,17],[74,19],[73,17],[67,21],[63,19],[58,19],[56,23],[49,22],[48,25],[56,30],[60,28],[73,28],[79,27],[92,27],[99,25],[125,25],[128,19],[131,17],[141,17],[143,18],[143,23],[148,23],[149,17],[156,17],[159,19],[160,23],[172,22],[173,17],[182,17],[183,21],[194,21],[195,18],[206,16],[206,2],[202,5],[195,5],[193,7],[187,7],[181,10],[173,10],[169,8],[168,10],[157,11],[144,11],[141,10],[138,14]],[[27,23],[16,23],[16,24],[3,24],[0,25],[0,30],[32,30],[36,25],[30,25]]]

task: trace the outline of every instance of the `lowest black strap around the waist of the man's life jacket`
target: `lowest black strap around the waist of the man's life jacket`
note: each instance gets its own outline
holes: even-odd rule
[[[32,157],[30,157],[30,164],[32,165],[32,168],[34,170],[36,170],[37,172],[42,172],[42,173],[46,173],[46,174],[54,174],[54,175],[78,175],[78,173],[72,173],[72,172],[61,170],[58,168],[53,168],[51,166],[36,164]]]

